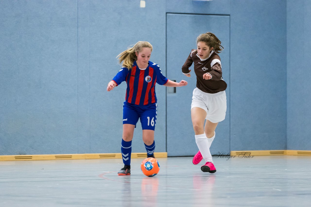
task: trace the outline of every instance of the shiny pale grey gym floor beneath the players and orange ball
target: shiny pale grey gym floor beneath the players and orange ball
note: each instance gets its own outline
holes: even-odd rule
[[[214,158],[203,173],[192,157],[159,158],[155,177],[132,159],[0,161],[0,206],[310,206],[310,156]]]

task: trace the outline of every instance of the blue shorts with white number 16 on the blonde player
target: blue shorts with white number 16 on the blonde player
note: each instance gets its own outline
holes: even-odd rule
[[[155,130],[156,115],[157,103],[140,106],[124,101],[123,124],[133,124],[136,127],[138,119],[140,119],[142,129]]]

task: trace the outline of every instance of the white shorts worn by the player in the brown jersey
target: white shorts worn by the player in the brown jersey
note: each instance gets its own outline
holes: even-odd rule
[[[198,88],[193,90],[191,109],[199,107],[207,113],[207,120],[212,123],[223,121],[227,111],[226,92],[206,93]]]

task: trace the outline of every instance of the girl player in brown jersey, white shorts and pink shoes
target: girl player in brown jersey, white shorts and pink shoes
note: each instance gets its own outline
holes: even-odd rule
[[[221,62],[218,53],[222,50],[215,34],[207,32],[197,37],[197,49],[193,49],[182,66],[182,72],[190,77],[189,67],[194,63],[197,88],[193,90],[191,120],[195,141],[199,151],[193,157],[193,164],[199,164],[203,172],[215,173],[210,146],[215,138],[218,122],[225,119],[227,110],[226,82],[222,79]],[[206,120],[205,126],[204,122]]]

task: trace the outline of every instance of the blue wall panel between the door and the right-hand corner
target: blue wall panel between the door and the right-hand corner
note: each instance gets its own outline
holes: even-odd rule
[[[231,1],[230,150],[286,149],[286,1]]]

